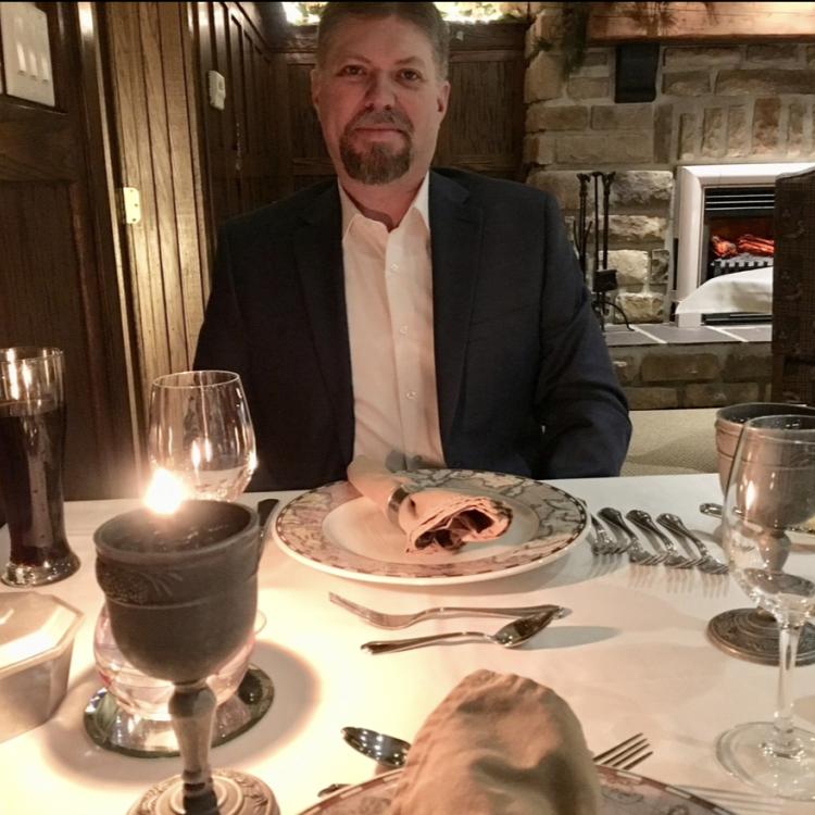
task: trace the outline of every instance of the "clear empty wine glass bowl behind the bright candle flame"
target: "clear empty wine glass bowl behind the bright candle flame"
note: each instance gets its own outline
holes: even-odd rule
[[[187,498],[234,501],[258,459],[240,377],[230,371],[160,376],[150,392],[148,457]]]

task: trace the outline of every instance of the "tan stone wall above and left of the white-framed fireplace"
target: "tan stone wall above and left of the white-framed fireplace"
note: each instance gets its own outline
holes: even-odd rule
[[[563,77],[557,50],[540,48],[560,3],[539,5],[527,38],[527,181],[557,197],[570,230],[576,174],[616,172],[609,261],[618,302],[631,322],[661,322],[677,165],[808,159],[815,45],[664,46],[656,99],[616,104],[615,49],[590,48],[582,67]]]

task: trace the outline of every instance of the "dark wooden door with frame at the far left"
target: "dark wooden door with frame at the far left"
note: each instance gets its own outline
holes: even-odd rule
[[[67,498],[133,491],[136,442],[91,3],[48,14],[55,106],[0,93],[0,346],[66,362]],[[82,15],[82,25],[80,25]]]

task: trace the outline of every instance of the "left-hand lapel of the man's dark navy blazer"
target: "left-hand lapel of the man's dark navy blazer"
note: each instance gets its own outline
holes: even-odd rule
[[[342,275],[342,217],[336,185],[321,195],[303,217],[303,225],[293,235],[294,259],[340,450],[344,460],[351,461],[353,385]]]

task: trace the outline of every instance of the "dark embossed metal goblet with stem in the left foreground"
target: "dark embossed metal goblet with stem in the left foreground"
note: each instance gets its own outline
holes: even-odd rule
[[[209,763],[215,697],[206,677],[251,636],[262,552],[256,514],[240,504],[187,501],[171,516],[148,509],[97,529],[97,580],[122,653],[173,682],[170,703],[184,772],[160,782],[129,815],[273,815],[260,779]]]

